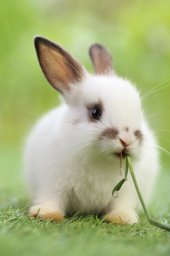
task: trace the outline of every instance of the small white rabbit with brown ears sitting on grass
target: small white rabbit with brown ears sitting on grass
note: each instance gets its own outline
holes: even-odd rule
[[[138,222],[141,206],[129,174],[119,196],[112,196],[122,179],[121,153],[130,155],[145,202],[158,173],[156,138],[138,90],[115,74],[112,56],[101,44],[89,49],[95,74],[46,38],[36,37],[35,49],[62,104],[38,121],[26,141],[24,166],[33,198],[29,216],[60,222],[77,213],[115,224]]]

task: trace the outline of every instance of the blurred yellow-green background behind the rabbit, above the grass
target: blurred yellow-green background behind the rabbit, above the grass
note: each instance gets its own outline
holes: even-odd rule
[[[104,44],[119,76],[141,95],[159,146],[170,150],[170,1],[169,0],[6,0],[0,2],[0,200],[25,197],[22,150],[31,127],[59,104],[46,81],[33,45],[34,36],[53,40],[93,72],[88,47]],[[157,89],[159,89],[157,88]],[[155,209],[170,204],[170,157],[161,153],[164,171],[158,179]],[[167,169],[167,170],[166,170]],[[157,194],[163,200],[157,205]],[[157,205],[157,206],[156,206]],[[166,211],[166,209],[165,209]]]

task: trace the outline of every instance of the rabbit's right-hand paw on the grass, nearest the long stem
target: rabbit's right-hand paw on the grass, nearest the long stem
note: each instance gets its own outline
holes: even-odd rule
[[[114,224],[125,225],[137,223],[137,215],[132,210],[115,210],[106,214],[105,221],[114,222]]]

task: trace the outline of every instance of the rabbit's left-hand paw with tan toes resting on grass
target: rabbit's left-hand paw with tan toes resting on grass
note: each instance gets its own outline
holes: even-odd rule
[[[49,207],[45,204],[37,204],[30,208],[30,217],[42,218],[43,220],[51,219],[51,221],[62,221],[64,220],[64,214],[62,211],[57,211],[53,207]]]

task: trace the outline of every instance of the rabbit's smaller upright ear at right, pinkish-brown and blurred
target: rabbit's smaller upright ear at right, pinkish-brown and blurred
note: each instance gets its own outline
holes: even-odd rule
[[[115,75],[112,56],[103,45],[91,45],[89,55],[93,61],[96,74]]]

